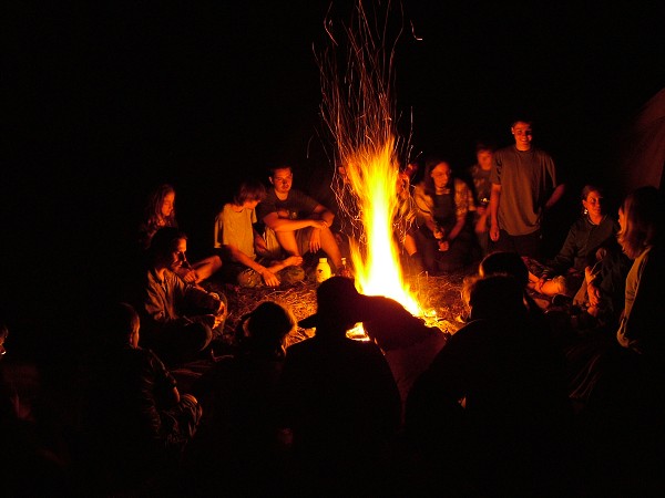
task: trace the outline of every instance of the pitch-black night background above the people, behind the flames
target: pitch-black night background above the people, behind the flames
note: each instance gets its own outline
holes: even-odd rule
[[[113,294],[160,183],[176,187],[194,259],[239,178],[285,158],[297,187],[329,173],[315,53],[326,13],[337,28],[352,2],[14,3],[0,227],[10,330],[49,333]],[[477,138],[508,144],[526,114],[576,209],[584,183],[621,190],[622,133],[665,81],[663,8],[530,3],[393,2],[399,128],[411,156],[466,167]]]

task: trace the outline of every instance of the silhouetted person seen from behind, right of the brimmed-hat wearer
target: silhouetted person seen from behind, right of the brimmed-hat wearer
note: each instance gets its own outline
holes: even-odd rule
[[[467,286],[471,321],[407,401],[407,435],[423,461],[423,486],[449,486],[453,495],[561,496],[572,480],[563,465],[572,423],[563,357],[514,278]]]

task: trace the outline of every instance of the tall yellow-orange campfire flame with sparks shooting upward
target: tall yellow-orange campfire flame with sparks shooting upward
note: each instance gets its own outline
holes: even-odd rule
[[[386,295],[413,314],[423,314],[405,281],[399,259],[400,226],[398,181],[399,149],[392,98],[393,50],[387,52],[358,1],[350,27],[344,27],[347,53],[338,55],[341,37],[332,37],[332,22],[326,20],[331,48],[318,60],[321,73],[321,113],[330,129],[337,165],[336,194],[352,231],[351,259],[358,290]],[[381,33],[388,31],[385,13]],[[374,12],[375,17],[379,17]],[[377,30],[378,31],[378,30]],[[397,37],[399,38],[399,37]],[[397,42],[397,39],[396,39]],[[345,68],[338,70],[337,58]]]

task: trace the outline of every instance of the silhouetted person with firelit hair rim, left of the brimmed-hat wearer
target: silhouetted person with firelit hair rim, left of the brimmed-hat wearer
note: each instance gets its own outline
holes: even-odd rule
[[[201,496],[285,494],[287,448],[277,416],[286,336],[296,329],[289,308],[264,301],[241,319],[237,353],[224,356],[204,382],[211,411],[192,445],[192,487]]]

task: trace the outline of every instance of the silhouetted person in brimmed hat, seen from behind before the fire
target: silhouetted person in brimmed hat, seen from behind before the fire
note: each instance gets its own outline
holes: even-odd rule
[[[331,277],[317,289],[317,311],[298,325],[313,338],[287,349],[280,381],[282,416],[293,432],[301,479],[313,489],[358,492],[385,481],[400,427],[400,396],[374,342],[346,332],[370,313],[372,299],[354,280]],[[380,477],[381,476],[381,477]],[[368,488],[368,489],[370,489]]]

